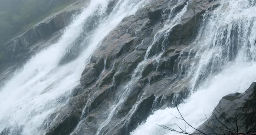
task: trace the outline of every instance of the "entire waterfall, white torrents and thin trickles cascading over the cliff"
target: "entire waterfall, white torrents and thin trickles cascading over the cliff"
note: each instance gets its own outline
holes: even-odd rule
[[[115,4],[109,12],[108,4],[113,1]],[[89,6],[84,8],[82,13],[65,28],[56,43],[45,45],[49,47],[34,55],[22,68],[16,71],[15,76],[8,80],[5,86],[0,88],[0,133],[4,131],[8,132],[8,135],[46,134],[45,124],[52,122],[49,121],[49,117],[55,113],[56,110],[62,109],[63,106],[69,104],[70,94],[75,87],[81,84],[81,74],[85,66],[90,62],[91,57],[93,58],[93,52],[100,48],[99,46],[105,41],[105,37],[108,37],[112,30],[115,29],[125,17],[134,15],[141,7],[144,7],[152,1],[91,0]],[[109,55],[109,57],[112,58],[107,58],[108,56],[105,57],[105,55],[102,57],[102,59],[104,59],[104,68],[97,73],[99,75],[95,77],[96,83],[93,84],[93,88],[95,87],[93,90],[101,90],[101,83],[103,82],[102,80],[105,79],[106,72],[113,71],[113,75],[107,79],[109,79],[109,85],[111,85],[111,87],[113,84],[113,91],[115,92],[109,92],[112,95],[104,97],[111,98],[110,100],[103,99],[104,102],[99,103],[105,107],[104,109],[99,105],[99,107],[95,107],[97,112],[94,113],[94,115],[98,115],[99,120],[94,121],[96,124],[92,125],[94,126],[92,129],[88,128],[90,134],[110,134],[112,133],[111,131],[119,127],[123,129],[118,130],[125,130],[125,134],[128,134],[137,126],[134,124],[137,121],[130,121],[134,118],[137,119],[137,117],[133,118],[133,115],[137,115],[136,113],[138,112],[136,111],[141,103],[144,102],[145,97],[150,96],[150,94],[156,96],[154,92],[148,94],[147,90],[136,91],[136,87],[138,87],[137,84],[142,85],[142,74],[148,63],[154,61],[152,62],[154,64],[152,70],[157,71],[163,57],[169,57],[169,54],[165,56],[166,54],[164,53],[169,53],[165,51],[170,47],[168,46],[170,45],[169,40],[172,36],[170,33],[175,29],[175,26],[181,25],[184,23],[184,20],[189,18],[190,13],[188,13],[189,15],[186,13],[191,11],[189,7],[190,2],[193,0],[159,1],[169,2],[170,5],[164,6],[165,8],[167,7],[167,9],[161,11],[161,19],[151,22],[145,17],[144,20],[141,21],[143,24],[139,22],[141,26],[138,26],[138,29],[136,28],[137,31],[135,31],[134,37],[132,37],[133,39],[138,38],[135,36],[139,36],[140,34],[136,34],[136,32],[144,28],[144,25],[152,25],[154,29],[152,29],[153,32],[150,33],[150,36],[147,37],[143,35],[150,39],[150,43],[145,45],[145,48],[141,49],[144,53],[141,51],[140,55],[143,56],[138,60],[138,63],[131,61],[131,63],[135,65],[134,68],[129,67],[132,69],[129,69],[131,72],[127,72],[129,77],[127,77],[125,81],[120,81],[120,84],[115,83],[115,74],[125,69],[122,67],[126,64],[125,58],[128,57],[125,53],[128,54],[130,52],[121,54],[123,52],[119,50],[122,56],[118,59],[120,61],[117,61],[118,65],[116,67],[115,60],[117,59],[115,59],[116,57],[112,57],[114,55]],[[203,0],[197,0],[197,2],[198,1]],[[179,58],[182,57],[181,55],[183,55],[185,50],[181,51],[181,53],[176,53],[175,48],[171,51],[174,51],[175,54],[180,54],[175,64],[177,64],[177,66],[181,64],[181,67],[178,67],[177,70],[179,71],[177,71],[177,74],[171,70],[167,73],[170,76],[175,75],[176,80],[173,81],[174,84],[170,82],[170,88],[167,88],[166,91],[173,90],[173,85],[176,84],[179,86],[175,86],[175,89],[178,88],[180,90],[180,85],[187,88],[189,96],[187,99],[181,99],[182,102],[179,102],[178,108],[184,116],[184,119],[195,128],[206,120],[205,116],[209,117],[211,115],[214,106],[217,105],[223,96],[234,92],[244,92],[253,81],[256,81],[256,73],[254,72],[256,69],[256,0],[212,0],[211,2],[215,1],[219,1],[220,4],[216,5],[214,10],[206,10],[205,13],[203,13],[203,22],[200,24],[200,28],[193,42],[189,43],[189,45],[183,45],[186,47],[181,47],[189,52],[188,56],[186,56],[186,61],[190,61],[189,66],[185,67],[179,63],[184,62]],[[150,8],[154,6],[146,7]],[[147,16],[147,13],[150,12],[150,9],[147,8],[143,9],[143,11],[139,11]],[[154,10],[158,11],[158,7],[154,8]],[[136,19],[139,20],[140,18],[138,17]],[[114,38],[120,38],[118,37],[119,35],[114,36],[116,36]],[[136,47],[131,47],[133,49],[132,51],[137,51],[139,45],[144,45],[146,39],[143,38],[138,40],[140,43],[136,41],[136,45],[134,45]],[[113,46],[120,47],[121,45]],[[113,49],[113,46],[111,46],[109,50]],[[104,47],[102,48],[104,49]],[[125,45],[120,48],[126,49]],[[115,51],[115,49],[113,50]],[[111,53],[113,50],[109,52]],[[70,58],[70,56],[72,58]],[[126,72],[124,73],[126,74]],[[165,77],[165,73],[160,75]],[[147,77],[144,78],[150,82],[151,76]],[[169,82],[167,81],[165,84],[169,87]],[[146,86],[143,86],[145,89],[151,87],[151,84],[148,82],[143,84]],[[104,82],[102,84],[104,84]],[[86,87],[86,89],[90,88],[90,86]],[[163,89],[164,88],[165,87],[163,87]],[[175,90],[173,91],[174,93],[176,92]],[[108,93],[107,90],[104,92]],[[133,101],[134,103],[129,104],[129,108],[125,110],[127,112],[121,114],[122,116],[120,114],[118,115],[118,111],[125,106],[125,103],[129,100],[129,96],[134,93],[138,93],[135,99],[133,99],[135,100]],[[89,93],[89,99],[86,100],[86,104],[82,104],[83,108],[79,108],[81,109],[82,115],[81,117],[79,116],[80,121],[76,123],[77,125],[74,125],[75,127],[70,131],[70,135],[86,134],[84,130],[87,130],[87,115],[92,113],[90,112],[92,111],[90,110],[92,102],[98,102],[95,100],[97,94],[98,93],[94,93],[94,91]],[[157,100],[159,98],[160,97],[155,97],[153,99],[155,100],[154,102],[152,100],[153,107],[151,107],[151,109],[158,108],[154,106],[158,106]],[[173,103],[176,102],[177,98],[179,98],[178,93],[174,96]],[[164,100],[165,97],[161,97],[161,101],[166,102]],[[193,132],[194,129],[189,127],[183,120],[177,119],[179,112],[176,108],[172,107],[168,106],[165,109],[155,110],[147,119],[138,118],[141,121],[146,120],[138,125],[130,134],[178,134],[165,130],[159,125],[165,125],[173,129],[179,129],[179,127],[177,127],[177,125],[179,125],[182,129],[186,129],[187,132]],[[58,116],[59,114],[56,115]],[[57,118],[57,116],[55,117]],[[138,120],[138,123],[141,122],[140,120]],[[134,125],[130,126],[129,124]],[[129,127],[125,125],[129,125]]]

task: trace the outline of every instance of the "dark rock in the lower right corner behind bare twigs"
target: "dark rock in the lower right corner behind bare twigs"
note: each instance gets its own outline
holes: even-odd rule
[[[256,83],[251,86],[244,93],[233,93],[224,96],[217,105],[208,120],[212,127],[220,127],[225,129],[226,134],[232,132],[248,133],[256,131]],[[223,124],[221,124],[219,121]],[[208,122],[204,122],[198,129],[207,134],[223,133],[218,128],[210,129],[207,126]],[[225,126],[224,126],[225,125]],[[237,126],[236,126],[237,125]],[[238,129],[237,129],[238,127]],[[227,131],[226,131],[227,130]]]

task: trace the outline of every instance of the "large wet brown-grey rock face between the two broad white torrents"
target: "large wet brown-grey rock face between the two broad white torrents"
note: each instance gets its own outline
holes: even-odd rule
[[[108,3],[109,13],[115,3],[116,0]],[[52,120],[46,126],[46,135],[68,135],[74,130],[71,135],[95,135],[99,128],[104,135],[129,135],[154,109],[172,106],[175,92],[181,99],[176,102],[182,102],[188,93],[187,87],[177,85],[185,83],[179,82],[181,66],[177,61],[187,58],[188,52],[182,50],[194,41],[202,15],[216,4],[205,0],[155,0],[135,15],[125,17],[92,54],[82,73],[81,86],[72,92],[70,104],[56,111],[62,121]],[[180,24],[153,43],[167,16],[173,19],[185,7],[187,11]],[[150,45],[149,58],[163,54],[137,69],[145,61]],[[117,104],[109,119],[109,108]]]

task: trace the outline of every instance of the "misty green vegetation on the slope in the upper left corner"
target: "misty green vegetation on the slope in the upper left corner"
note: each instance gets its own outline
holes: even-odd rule
[[[0,0],[0,45],[76,0]]]

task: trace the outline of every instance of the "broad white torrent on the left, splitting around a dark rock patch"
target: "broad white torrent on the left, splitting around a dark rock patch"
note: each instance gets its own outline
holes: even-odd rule
[[[79,84],[85,61],[104,37],[128,15],[135,13],[143,1],[119,0],[113,12],[101,18],[90,35],[88,47],[68,64],[59,65],[69,46],[83,32],[82,25],[94,13],[104,16],[108,0],[92,0],[90,5],[66,28],[59,41],[39,52],[0,90],[0,132],[43,134],[47,117],[67,103],[71,90]]]

